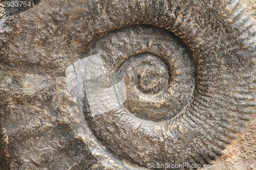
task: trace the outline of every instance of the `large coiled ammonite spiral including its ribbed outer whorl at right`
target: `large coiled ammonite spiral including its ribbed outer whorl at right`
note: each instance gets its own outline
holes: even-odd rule
[[[100,55],[104,78],[84,80],[83,112],[98,139],[121,159],[141,166],[209,164],[254,110],[254,85],[246,81],[252,78],[246,70],[254,67],[253,43],[242,32],[229,33],[220,16],[204,18],[206,9],[195,14],[189,4],[163,2],[174,13],[162,9],[155,18],[116,29],[86,55]],[[247,45],[245,53],[240,43]],[[124,95],[117,92],[120,82]],[[104,88],[98,86],[113,89],[99,94]],[[110,100],[112,93],[118,102]]]

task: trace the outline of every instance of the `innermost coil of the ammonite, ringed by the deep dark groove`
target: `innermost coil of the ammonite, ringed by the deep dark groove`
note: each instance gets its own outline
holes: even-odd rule
[[[179,62],[185,63],[181,60]],[[190,99],[190,95],[184,94],[189,94],[193,81],[179,82],[181,79],[175,79],[173,75],[189,79],[186,75],[193,71],[177,72],[176,69],[173,63],[167,64],[161,57],[150,53],[139,54],[125,61],[115,76],[115,84],[124,78],[127,91],[124,108],[136,117],[154,122],[178,114]]]

